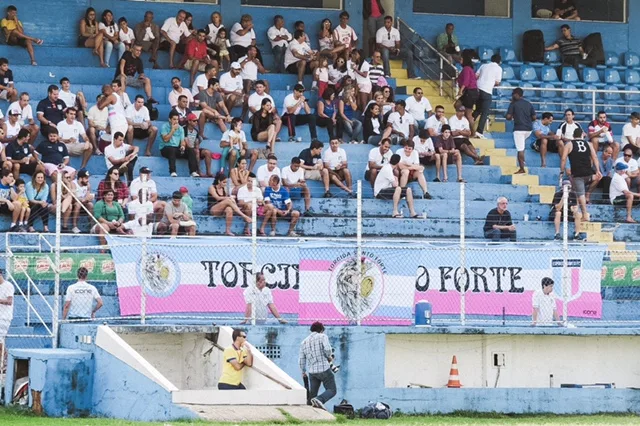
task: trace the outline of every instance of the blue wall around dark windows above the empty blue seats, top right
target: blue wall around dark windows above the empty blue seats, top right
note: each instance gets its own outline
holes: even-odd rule
[[[396,16],[420,32],[428,41],[435,43],[438,34],[444,31],[447,22],[456,26],[460,44],[468,47],[512,47],[520,52],[522,33],[530,29],[539,29],[544,33],[545,42],[551,44],[560,36],[560,25],[564,22],[531,17],[531,0],[512,0],[512,18],[491,18],[458,15],[414,14],[412,1],[397,1]],[[629,0],[629,22],[569,22],[578,37],[593,32],[602,34],[604,48],[607,51],[623,53],[638,50],[636,40],[640,28],[633,25],[640,21],[640,2]]]

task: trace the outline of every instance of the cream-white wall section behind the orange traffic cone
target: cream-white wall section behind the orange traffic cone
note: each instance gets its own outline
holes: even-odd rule
[[[464,387],[494,387],[492,353],[506,356],[497,387],[554,387],[561,383],[640,386],[640,338],[634,336],[387,335],[385,386],[444,387],[453,355]]]

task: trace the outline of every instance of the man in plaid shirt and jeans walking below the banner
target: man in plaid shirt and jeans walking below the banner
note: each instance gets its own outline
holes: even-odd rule
[[[302,377],[309,377],[311,405],[326,410],[324,404],[336,395],[336,379],[330,367],[333,350],[321,322],[311,325],[311,334],[300,345],[299,361]],[[320,384],[325,391],[318,395]]]

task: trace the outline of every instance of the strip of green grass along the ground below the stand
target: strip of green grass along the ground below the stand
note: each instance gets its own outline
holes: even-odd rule
[[[112,419],[51,419],[36,417],[16,409],[0,408],[0,425],[7,426],[183,426],[183,425],[231,425],[232,423],[207,423],[207,422],[127,422]],[[373,426],[373,425],[637,425],[640,424],[640,416],[635,415],[594,415],[594,416],[505,416],[500,414],[472,414],[459,413],[448,416],[395,416],[390,420],[347,420],[338,418],[336,423],[302,423],[296,420],[277,423],[252,423],[254,425],[280,424],[280,425],[348,425],[348,426]],[[249,425],[249,423],[247,423]]]

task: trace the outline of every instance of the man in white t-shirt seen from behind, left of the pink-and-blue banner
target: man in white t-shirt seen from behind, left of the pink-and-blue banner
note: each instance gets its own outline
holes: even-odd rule
[[[62,319],[90,320],[95,319],[96,312],[102,308],[102,297],[98,290],[87,282],[89,271],[84,266],[78,268],[78,282],[67,288],[64,297]],[[95,304],[94,304],[95,302]]]

